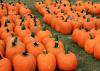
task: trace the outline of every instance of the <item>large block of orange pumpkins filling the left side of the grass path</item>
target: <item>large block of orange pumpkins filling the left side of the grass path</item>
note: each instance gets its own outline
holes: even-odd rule
[[[24,3],[1,3],[11,8]],[[14,9],[10,11],[15,12]],[[7,10],[9,12],[9,10]],[[22,12],[22,11],[21,11]],[[31,13],[8,13],[0,18],[0,71],[75,70],[78,65],[73,52],[65,52],[57,35],[40,24]],[[37,70],[36,70],[37,68]]]

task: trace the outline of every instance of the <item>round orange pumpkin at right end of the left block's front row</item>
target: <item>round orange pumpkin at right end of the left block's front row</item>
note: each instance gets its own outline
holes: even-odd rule
[[[59,53],[57,55],[57,67],[62,71],[73,71],[77,68],[78,61],[74,53]]]

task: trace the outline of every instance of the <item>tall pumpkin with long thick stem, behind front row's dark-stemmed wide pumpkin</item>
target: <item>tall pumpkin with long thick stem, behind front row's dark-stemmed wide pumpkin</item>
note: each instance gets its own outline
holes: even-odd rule
[[[18,39],[18,37],[13,37],[7,44],[6,44],[6,57],[12,61],[13,58],[17,55],[25,51],[24,44]]]

